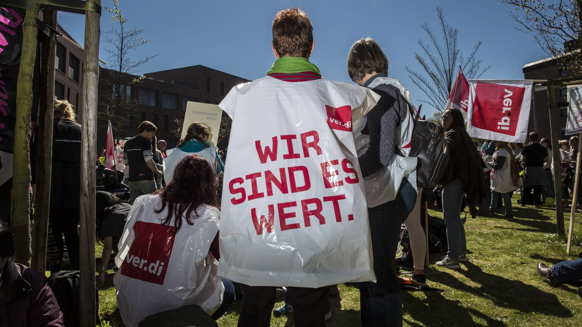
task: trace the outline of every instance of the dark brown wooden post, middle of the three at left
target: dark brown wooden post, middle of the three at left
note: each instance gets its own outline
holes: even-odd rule
[[[56,10],[45,9],[43,22],[56,30]],[[40,106],[38,108],[37,184],[34,194],[33,258],[31,268],[44,274],[47,261],[47,231],[51,200],[52,119],[55,94],[54,38],[42,37]]]

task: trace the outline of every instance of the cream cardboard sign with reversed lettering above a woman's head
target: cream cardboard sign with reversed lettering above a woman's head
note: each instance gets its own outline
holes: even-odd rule
[[[182,127],[182,137],[186,137],[186,131],[191,123],[200,122],[208,126],[208,141],[214,147],[218,142],[218,132],[220,131],[220,120],[222,110],[218,105],[201,104],[200,102],[188,101],[186,105],[186,115],[184,115],[184,125]]]

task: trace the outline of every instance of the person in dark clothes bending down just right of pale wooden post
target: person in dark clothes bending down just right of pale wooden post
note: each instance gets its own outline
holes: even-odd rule
[[[95,235],[97,241],[103,242],[101,266],[97,269],[99,272],[97,276],[98,287],[105,283],[105,271],[107,271],[111,252],[113,251],[113,256],[119,252],[119,239],[131,208],[131,204],[120,202],[118,197],[107,191],[95,193]]]

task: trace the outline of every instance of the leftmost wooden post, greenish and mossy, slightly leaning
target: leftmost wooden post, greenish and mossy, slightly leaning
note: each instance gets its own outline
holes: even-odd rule
[[[16,87],[16,126],[12,179],[12,233],[15,237],[14,261],[30,266],[30,112],[33,106],[33,73],[38,37],[40,5],[27,4],[22,22],[22,55]]]

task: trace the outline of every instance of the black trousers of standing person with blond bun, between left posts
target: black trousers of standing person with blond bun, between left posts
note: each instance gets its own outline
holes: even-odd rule
[[[71,262],[71,270],[79,270],[79,208],[49,208],[48,221],[51,223],[52,234],[55,237],[58,248],[59,260],[51,264],[51,274],[61,271],[63,252],[65,245],[63,237],[67,242],[67,251]]]

